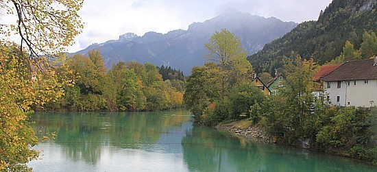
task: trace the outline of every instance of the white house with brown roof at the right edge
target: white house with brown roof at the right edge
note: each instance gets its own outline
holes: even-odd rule
[[[322,79],[326,101],[336,106],[376,106],[377,56],[345,62]]]

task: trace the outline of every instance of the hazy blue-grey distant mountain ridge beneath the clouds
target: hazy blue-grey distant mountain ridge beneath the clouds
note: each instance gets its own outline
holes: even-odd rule
[[[228,10],[203,23],[193,23],[187,30],[178,29],[167,34],[147,32],[144,36],[127,33],[118,40],[96,43],[77,53],[86,54],[89,50],[99,49],[108,67],[119,61],[151,62],[156,66],[169,65],[189,75],[193,66],[201,66],[206,61],[203,58],[207,53],[204,44],[215,31],[228,29],[241,39],[246,51],[253,54],[296,25],[273,17],[266,19]]]

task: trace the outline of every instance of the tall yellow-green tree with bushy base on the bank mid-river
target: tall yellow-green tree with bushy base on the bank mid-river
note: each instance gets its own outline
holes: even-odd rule
[[[239,38],[227,29],[215,32],[204,47],[208,50],[206,58],[212,62],[193,68],[184,93],[186,108],[193,112],[197,122],[205,125],[237,119],[243,112],[248,112],[251,105],[243,101],[247,104],[244,110],[230,103],[243,99],[233,95],[250,91],[238,89],[242,84],[251,82],[252,65],[246,60],[247,53]],[[250,93],[250,97],[254,96],[257,94]]]

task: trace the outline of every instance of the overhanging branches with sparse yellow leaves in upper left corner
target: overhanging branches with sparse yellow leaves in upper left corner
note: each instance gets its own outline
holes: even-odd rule
[[[83,0],[1,0],[0,5],[9,15],[17,16],[17,23],[1,25],[0,32],[21,38],[21,49],[29,56],[55,57],[73,44],[81,33],[82,23],[77,12]],[[6,41],[7,38],[1,38]]]

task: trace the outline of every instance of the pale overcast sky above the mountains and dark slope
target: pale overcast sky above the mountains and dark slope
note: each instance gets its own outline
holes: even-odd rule
[[[258,16],[275,16],[282,21],[317,20],[331,0],[86,0],[79,14],[84,30],[75,38],[69,52],[93,43],[117,40],[133,32],[166,34],[187,29],[193,22],[203,22],[232,8]]]

